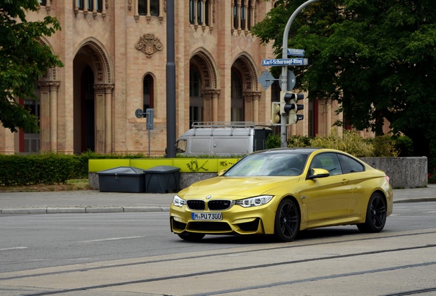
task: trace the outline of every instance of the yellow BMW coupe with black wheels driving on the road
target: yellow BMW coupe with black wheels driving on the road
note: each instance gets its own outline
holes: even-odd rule
[[[206,234],[274,234],[357,225],[380,232],[392,213],[389,177],[334,149],[280,148],[251,153],[226,172],[181,190],[170,206],[171,231],[185,240]]]

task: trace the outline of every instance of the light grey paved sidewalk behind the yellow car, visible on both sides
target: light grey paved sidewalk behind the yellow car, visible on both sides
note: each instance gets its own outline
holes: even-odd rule
[[[0,214],[168,212],[175,193],[105,193],[98,190],[0,193]],[[436,184],[394,189],[393,203],[436,201]]]

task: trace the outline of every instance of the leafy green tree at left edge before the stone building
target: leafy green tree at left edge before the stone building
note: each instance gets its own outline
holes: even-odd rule
[[[35,80],[47,69],[63,66],[40,40],[60,29],[58,20],[46,16],[44,21],[26,21],[26,11],[36,11],[38,5],[38,0],[0,1],[0,121],[11,132],[38,132],[38,119],[17,100],[37,99]]]

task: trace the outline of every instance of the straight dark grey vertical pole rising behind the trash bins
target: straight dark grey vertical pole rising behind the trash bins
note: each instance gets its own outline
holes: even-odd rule
[[[174,0],[167,1],[167,158],[175,158]]]

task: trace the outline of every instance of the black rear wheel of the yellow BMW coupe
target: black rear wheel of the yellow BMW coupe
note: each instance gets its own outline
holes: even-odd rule
[[[386,201],[380,193],[373,193],[368,202],[365,223],[357,224],[361,232],[376,233],[383,230],[386,223]]]

